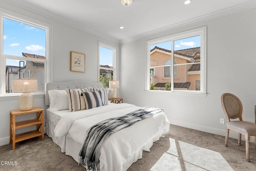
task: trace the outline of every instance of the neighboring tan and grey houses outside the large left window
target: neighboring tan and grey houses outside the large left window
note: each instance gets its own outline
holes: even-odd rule
[[[46,60],[45,56],[22,53],[25,58]],[[22,62],[23,63],[23,62]],[[37,90],[44,91],[44,62],[26,61],[22,66],[6,66],[6,92],[12,93],[13,79],[36,79]]]

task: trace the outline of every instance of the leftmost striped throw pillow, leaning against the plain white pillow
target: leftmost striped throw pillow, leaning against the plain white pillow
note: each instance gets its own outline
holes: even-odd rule
[[[66,89],[68,94],[68,111],[78,111],[85,109],[85,101],[81,96],[81,89]]]

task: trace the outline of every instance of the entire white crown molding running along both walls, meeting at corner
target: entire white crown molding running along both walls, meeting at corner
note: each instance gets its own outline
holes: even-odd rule
[[[88,32],[90,34],[93,34],[95,36],[99,36],[99,37],[104,38],[106,40],[110,40],[110,41],[112,41],[114,43],[117,43],[117,44],[124,44],[124,43],[127,43],[127,42],[132,42],[134,40],[146,38],[148,36],[152,36],[152,35],[155,35],[155,34],[158,34],[158,33],[161,33],[161,32],[166,32],[167,30],[170,30],[170,29],[174,29],[174,28],[178,28],[178,27],[182,27],[182,26],[186,26],[186,25],[191,25],[191,24],[196,24],[196,23],[199,23],[199,22],[204,22],[204,21],[207,21],[207,20],[215,19],[215,18],[220,18],[222,16],[227,16],[227,15],[230,15],[230,14],[234,14],[234,13],[237,13],[237,12],[242,12],[244,10],[248,10],[248,9],[256,7],[256,0],[251,0],[249,2],[238,4],[238,5],[232,6],[230,8],[225,8],[225,9],[222,9],[222,10],[219,10],[219,11],[216,11],[216,12],[212,12],[210,14],[206,14],[206,15],[203,15],[203,16],[200,16],[200,17],[192,18],[192,19],[186,20],[184,22],[179,22],[179,23],[176,23],[176,24],[172,24],[170,26],[160,28],[160,29],[152,30],[150,32],[146,32],[146,33],[138,34],[136,36],[125,38],[125,39],[122,39],[122,40],[118,40],[116,38],[113,38],[113,37],[108,36],[106,34],[103,34],[101,32],[98,32],[96,30],[88,28],[84,25],[73,22],[72,20],[68,20],[67,18],[64,18],[60,15],[57,15],[57,14],[54,14],[50,11],[44,10],[43,8],[40,8],[40,7],[35,6],[33,4],[30,4],[30,3],[28,3],[24,0],[4,0],[4,1],[6,1],[10,4],[14,4],[16,6],[19,6],[21,8],[24,8],[26,10],[30,10],[32,12],[35,12],[35,13],[40,14],[42,16],[45,16],[47,18],[57,20],[58,22],[62,22],[64,24],[67,24],[67,25],[72,26],[74,28],[78,28],[80,30],[83,30],[83,31]]]

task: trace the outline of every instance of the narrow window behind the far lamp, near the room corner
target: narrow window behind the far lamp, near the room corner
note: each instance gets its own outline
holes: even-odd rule
[[[109,81],[115,80],[116,47],[99,42],[99,82],[109,87]]]

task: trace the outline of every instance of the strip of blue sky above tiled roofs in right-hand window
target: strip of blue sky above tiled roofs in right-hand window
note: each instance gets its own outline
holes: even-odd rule
[[[159,48],[164,48],[167,50],[172,50],[172,41],[151,45],[150,50],[153,49],[155,46],[158,46]],[[174,50],[182,50],[182,49],[196,48],[196,47],[200,47],[200,36],[194,36],[191,38],[185,38],[185,39],[174,41]]]

